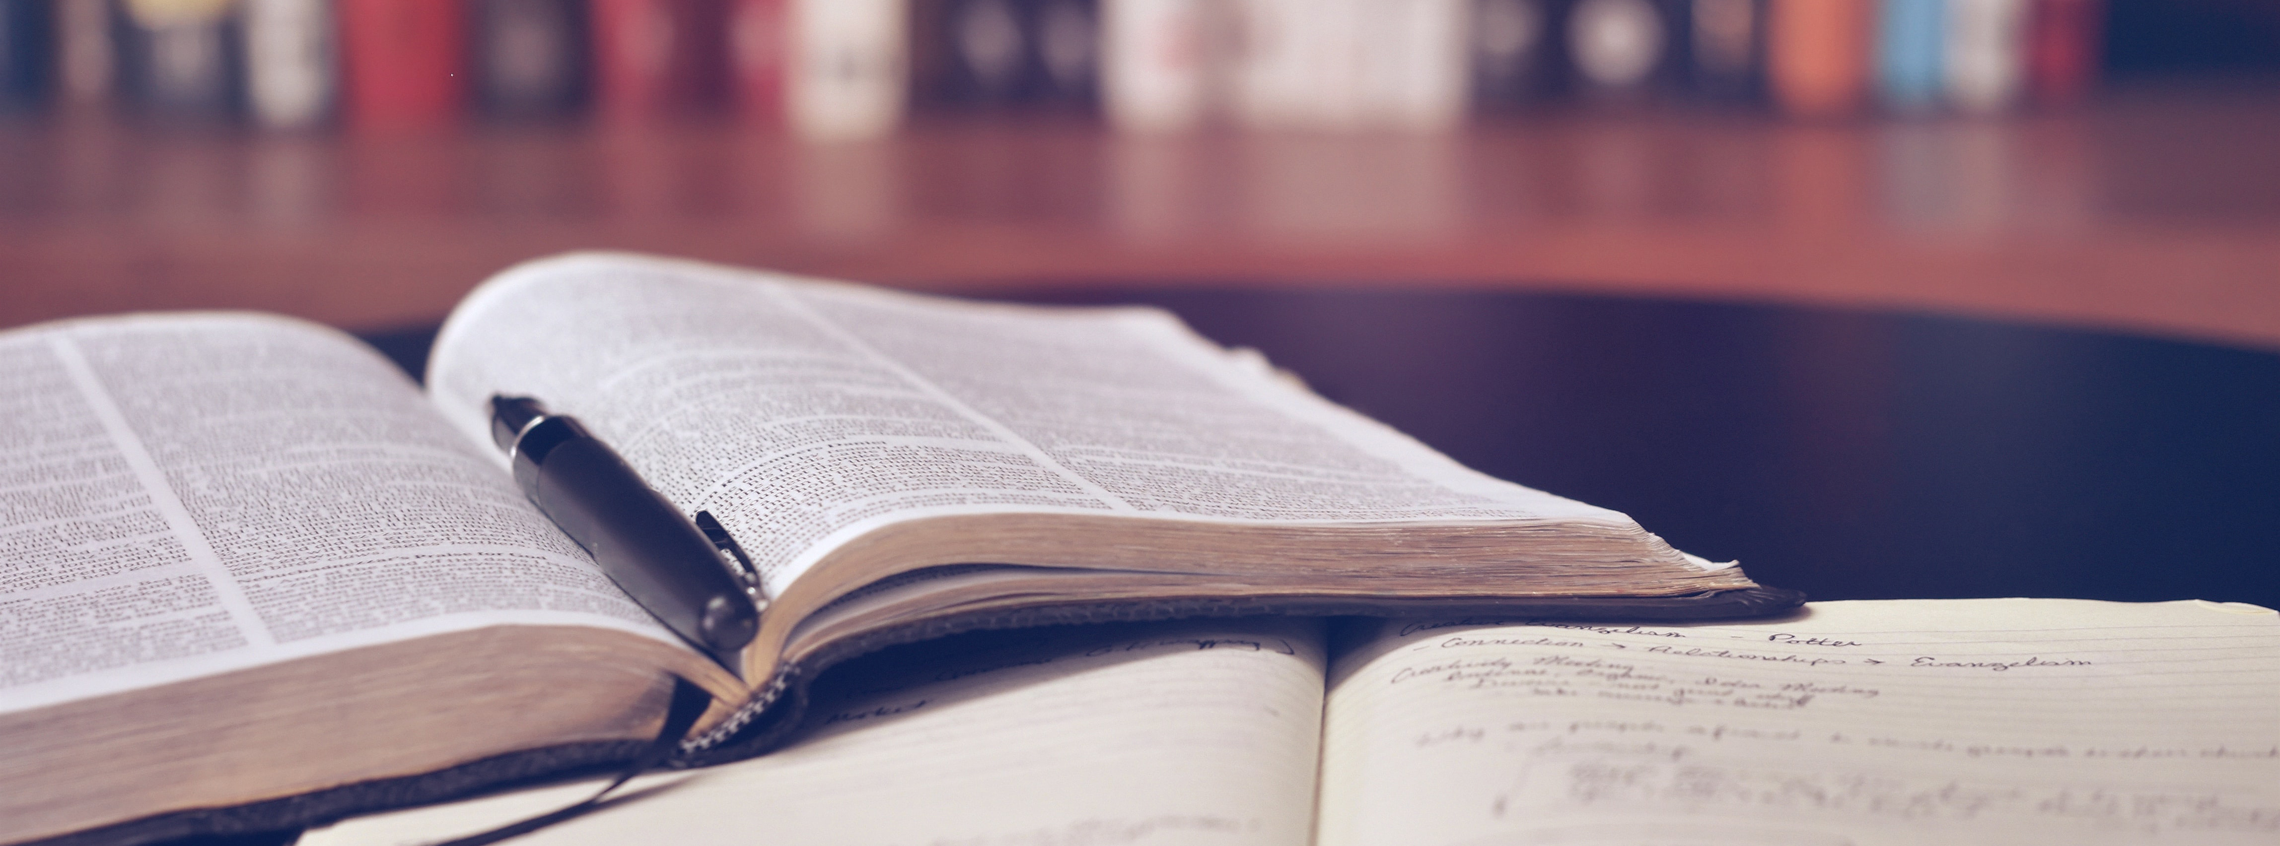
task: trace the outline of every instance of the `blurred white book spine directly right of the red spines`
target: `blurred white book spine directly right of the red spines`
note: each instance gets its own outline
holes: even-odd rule
[[[894,132],[910,84],[907,21],[901,0],[793,0],[791,130],[816,141]]]

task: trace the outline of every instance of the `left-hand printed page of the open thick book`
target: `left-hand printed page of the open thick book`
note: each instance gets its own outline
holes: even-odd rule
[[[264,315],[0,335],[0,711],[486,625],[677,643],[378,353]]]

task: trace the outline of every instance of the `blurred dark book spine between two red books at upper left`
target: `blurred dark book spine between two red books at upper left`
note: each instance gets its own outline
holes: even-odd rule
[[[586,5],[470,0],[474,100],[495,116],[563,116],[586,96]]]

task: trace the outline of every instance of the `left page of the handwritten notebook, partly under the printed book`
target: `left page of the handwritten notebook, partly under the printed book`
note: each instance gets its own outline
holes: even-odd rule
[[[1316,620],[1213,620],[907,648],[825,675],[805,741],[636,780],[627,800],[515,844],[1300,846],[1320,641]],[[431,844],[595,789],[365,816],[301,844]]]

